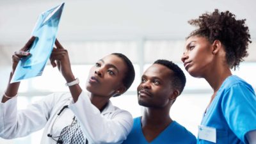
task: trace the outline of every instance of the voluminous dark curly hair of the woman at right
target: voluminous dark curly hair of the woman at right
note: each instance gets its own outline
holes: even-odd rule
[[[189,20],[192,26],[199,27],[192,31],[191,36],[203,36],[213,43],[220,40],[225,46],[226,61],[230,68],[236,70],[244,57],[248,56],[248,44],[252,43],[246,19],[236,20],[236,15],[218,9],[212,13],[204,13],[198,19]]]

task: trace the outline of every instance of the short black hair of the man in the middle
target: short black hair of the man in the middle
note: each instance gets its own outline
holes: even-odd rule
[[[180,67],[172,61],[168,60],[156,60],[154,64],[164,65],[173,71],[172,76],[170,76],[170,79],[172,79],[172,86],[173,88],[177,88],[180,93],[182,93],[186,84],[186,76]]]

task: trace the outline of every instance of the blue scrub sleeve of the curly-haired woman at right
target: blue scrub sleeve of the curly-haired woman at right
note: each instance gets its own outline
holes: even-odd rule
[[[230,129],[241,141],[248,143],[246,133],[256,130],[256,96],[252,86],[232,85],[225,90],[221,108]]]

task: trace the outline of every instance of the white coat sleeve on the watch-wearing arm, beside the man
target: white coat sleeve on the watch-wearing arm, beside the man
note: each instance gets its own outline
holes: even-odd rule
[[[69,108],[75,113],[89,143],[122,143],[132,129],[130,113],[118,109],[111,111],[111,117],[102,116],[84,92]]]

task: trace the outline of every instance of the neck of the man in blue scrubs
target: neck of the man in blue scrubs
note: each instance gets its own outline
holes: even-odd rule
[[[170,107],[163,109],[145,108],[141,117],[141,126],[156,129],[166,127],[172,122],[170,118]]]

